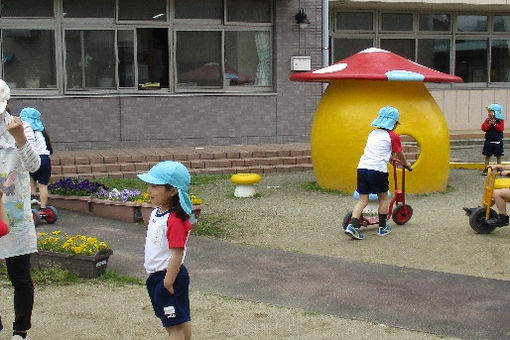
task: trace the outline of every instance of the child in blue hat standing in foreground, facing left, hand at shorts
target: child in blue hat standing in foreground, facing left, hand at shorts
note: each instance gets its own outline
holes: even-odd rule
[[[191,177],[179,162],[163,161],[138,177],[149,184],[152,211],[145,239],[146,281],[154,314],[169,339],[191,339],[189,274],[184,266],[192,211]]]

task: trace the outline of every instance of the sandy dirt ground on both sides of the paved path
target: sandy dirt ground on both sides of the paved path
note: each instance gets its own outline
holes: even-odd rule
[[[412,174],[411,174],[412,175]],[[303,190],[312,172],[264,175],[261,197],[234,199],[228,180],[197,186],[204,214],[230,216],[225,239],[306,254],[349,258],[450,273],[510,280],[510,227],[478,235],[463,206],[480,203],[479,171],[452,170],[446,193],[410,195],[412,219],[392,224],[393,233],[365,240],[345,236],[341,222],[355,201],[350,196]],[[192,273],[190,273],[192,275]],[[5,326],[12,322],[12,291],[0,285]],[[192,291],[194,339],[453,339],[358,320]],[[10,327],[6,327],[10,331]],[[0,339],[9,333],[0,332]],[[32,340],[165,339],[143,286],[78,284],[37,287]]]

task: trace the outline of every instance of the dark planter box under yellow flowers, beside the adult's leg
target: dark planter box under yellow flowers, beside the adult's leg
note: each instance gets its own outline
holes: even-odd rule
[[[108,265],[108,260],[113,254],[110,249],[107,253],[95,256],[67,255],[41,250],[30,255],[33,267],[48,268],[57,266],[75,273],[79,277],[91,279],[101,275]]]

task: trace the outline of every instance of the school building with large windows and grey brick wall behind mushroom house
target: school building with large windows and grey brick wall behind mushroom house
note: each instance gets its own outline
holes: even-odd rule
[[[427,84],[450,130],[510,110],[506,0],[1,0],[0,16],[11,106],[38,108],[60,150],[307,142],[322,86],[290,75],[371,46],[464,79]]]

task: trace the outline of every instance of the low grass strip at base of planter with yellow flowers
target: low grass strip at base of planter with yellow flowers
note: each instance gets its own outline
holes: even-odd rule
[[[109,269],[106,269],[103,275],[94,279],[80,278],[78,275],[67,270],[63,270],[58,266],[48,267],[45,269],[32,268],[31,273],[32,281],[36,286],[65,286],[83,282],[106,283],[116,286],[144,284],[144,281],[139,278],[118,274]],[[7,267],[4,261],[0,261],[0,284],[11,284],[9,277],[7,276]]]

